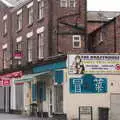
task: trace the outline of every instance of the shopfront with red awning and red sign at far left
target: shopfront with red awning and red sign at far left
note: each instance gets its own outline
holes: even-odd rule
[[[11,92],[14,86],[14,79],[20,78],[23,75],[22,71],[12,72],[0,75],[0,111],[10,112],[11,103],[14,93]]]

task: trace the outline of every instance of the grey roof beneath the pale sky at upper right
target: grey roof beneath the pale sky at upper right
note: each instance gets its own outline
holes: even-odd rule
[[[88,21],[109,21],[114,17],[120,15],[120,11],[88,11],[87,19]]]

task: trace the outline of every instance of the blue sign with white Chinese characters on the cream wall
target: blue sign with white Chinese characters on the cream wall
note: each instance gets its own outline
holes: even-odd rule
[[[70,78],[71,93],[106,93],[107,79],[84,75],[81,78]]]

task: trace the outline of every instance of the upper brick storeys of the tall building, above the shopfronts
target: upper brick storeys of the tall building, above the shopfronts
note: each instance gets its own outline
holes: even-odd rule
[[[1,69],[36,63],[57,53],[85,51],[86,0],[26,0],[6,7],[8,11],[1,10],[1,33],[7,30],[0,37]],[[17,51],[22,60],[14,59]]]

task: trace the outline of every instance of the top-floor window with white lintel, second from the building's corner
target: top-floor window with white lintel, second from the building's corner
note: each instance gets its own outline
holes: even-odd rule
[[[28,24],[31,25],[33,23],[33,2],[27,5],[28,8]]]

